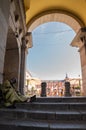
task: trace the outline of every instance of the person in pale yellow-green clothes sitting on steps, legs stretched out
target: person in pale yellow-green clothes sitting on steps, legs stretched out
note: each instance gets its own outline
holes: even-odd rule
[[[15,83],[16,80],[12,79],[0,84],[0,104],[2,103],[6,108],[15,108],[15,103],[33,102],[36,100],[36,95],[28,98],[18,92],[14,86]]]

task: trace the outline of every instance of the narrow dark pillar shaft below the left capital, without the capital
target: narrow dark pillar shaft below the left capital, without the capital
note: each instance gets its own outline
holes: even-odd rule
[[[27,55],[27,46],[25,38],[22,38],[21,46],[21,66],[20,66],[20,92],[24,94],[24,85],[25,85],[25,71],[26,71],[26,55]]]

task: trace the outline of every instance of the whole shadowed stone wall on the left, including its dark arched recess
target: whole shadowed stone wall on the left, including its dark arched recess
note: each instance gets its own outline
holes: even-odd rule
[[[16,77],[18,89],[24,87],[26,52],[31,47],[31,38],[26,34],[23,0],[0,0],[0,83]],[[22,39],[25,39],[24,53]]]

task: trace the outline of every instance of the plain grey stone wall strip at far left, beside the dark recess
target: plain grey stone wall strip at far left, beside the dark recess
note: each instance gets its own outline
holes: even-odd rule
[[[9,0],[0,0],[0,83],[3,80],[4,56],[9,22]]]

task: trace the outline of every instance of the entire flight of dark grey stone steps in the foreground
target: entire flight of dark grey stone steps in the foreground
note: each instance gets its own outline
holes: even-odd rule
[[[42,97],[0,109],[0,130],[86,130],[86,97]]]

